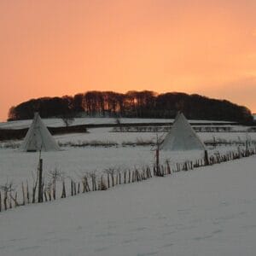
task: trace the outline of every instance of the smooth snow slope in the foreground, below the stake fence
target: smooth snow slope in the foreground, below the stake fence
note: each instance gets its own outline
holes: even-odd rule
[[[0,213],[1,255],[253,256],[256,157]]]

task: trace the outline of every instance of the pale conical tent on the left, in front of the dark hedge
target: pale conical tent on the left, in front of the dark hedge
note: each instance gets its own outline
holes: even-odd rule
[[[35,113],[32,125],[20,145],[20,151],[58,151],[61,148],[49,133],[38,113]]]

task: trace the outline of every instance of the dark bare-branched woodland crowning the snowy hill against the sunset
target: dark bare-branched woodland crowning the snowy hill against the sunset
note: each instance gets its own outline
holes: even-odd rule
[[[182,111],[188,119],[229,120],[248,123],[252,113],[246,107],[225,100],[200,95],[153,91],[87,91],[75,96],[42,97],[22,102],[9,109],[9,120],[32,119],[35,111],[43,118],[63,117],[129,117],[173,118]]]

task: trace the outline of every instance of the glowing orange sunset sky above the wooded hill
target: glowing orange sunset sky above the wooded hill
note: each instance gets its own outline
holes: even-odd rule
[[[256,112],[255,0],[1,0],[0,119],[86,90],[184,91]]]

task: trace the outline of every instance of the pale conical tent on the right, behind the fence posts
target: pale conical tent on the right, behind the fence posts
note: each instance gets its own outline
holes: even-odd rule
[[[183,113],[177,113],[172,130],[166,135],[160,149],[170,151],[206,150]]]

